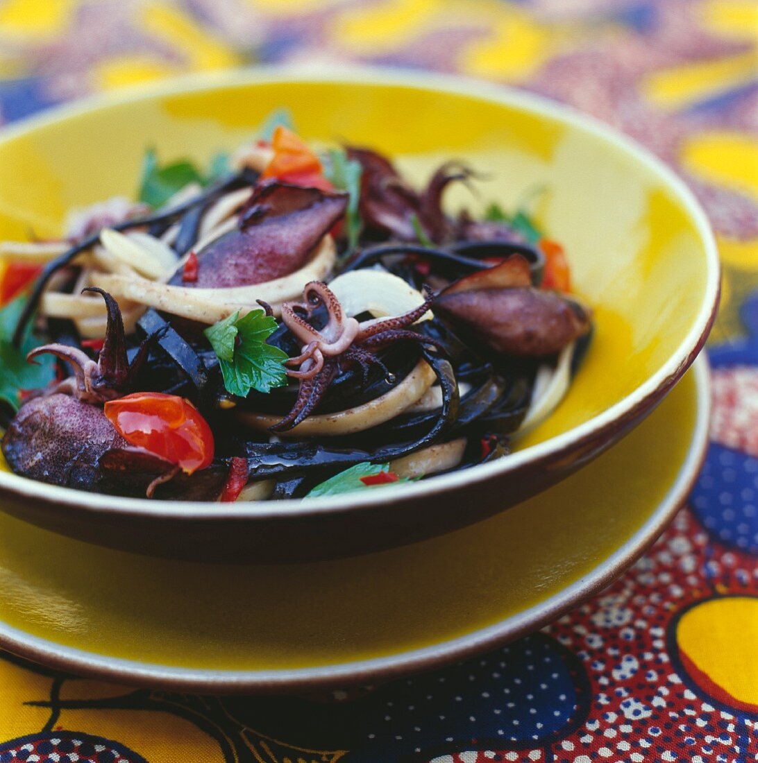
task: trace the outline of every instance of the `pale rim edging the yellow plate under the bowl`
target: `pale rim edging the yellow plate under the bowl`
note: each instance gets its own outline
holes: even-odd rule
[[[109,658],[55,645],[0,623],[0,646],[33,662],[87,678],[140,687],[198,694],[285,693],[325,690],[353,684],[390,681],[411,673],[440,668],[532,633],[579,606],[619,578],[658,539],[692,489],[708,447],[711,386],[708,363],[695,362],[697,409],[692,441],[668,494],[653,514],[608,559],[563,591],[514,617],[423,649],[381,658],[318,668],[273,671],[218,671],[170,668],[123,658]]]

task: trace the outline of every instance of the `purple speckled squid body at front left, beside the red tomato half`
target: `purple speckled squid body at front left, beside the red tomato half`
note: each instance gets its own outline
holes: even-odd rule
[[[150,482],[173,468],[127,443],[101,407],[62,393],[22,405],[2,439],[2,452],[22,477],[127,497],[145,497]],[[227,473],[227,465],[218,462],[193,475],[176,475],[157,488],[156,497],[213,501]]]

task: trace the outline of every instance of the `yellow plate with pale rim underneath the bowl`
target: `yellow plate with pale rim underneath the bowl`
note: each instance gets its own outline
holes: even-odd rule
[[[604,588],[673,517],[707,440],[705,361],[637,430],[498,517],[354,559],[170,562],[0,514],[0,645],[189,691],[373,681],[512,639]]]

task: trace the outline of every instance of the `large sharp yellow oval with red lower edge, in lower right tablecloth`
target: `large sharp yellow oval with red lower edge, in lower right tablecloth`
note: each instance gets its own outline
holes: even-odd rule
[[[699,687],[730,707],[758,710],[758,599],[723,597],[695,605],[679,620],[676,642]]]

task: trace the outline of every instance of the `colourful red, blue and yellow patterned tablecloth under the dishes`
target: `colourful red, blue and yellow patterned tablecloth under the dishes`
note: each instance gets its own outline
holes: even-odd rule
[[[595,600],[484,658],[331,701],[134,691],[0,655],[0,761],[758,760],[756,48],[753,0],[0,2],[3,121],[255,61],[464,72],[646,143],[704,204],[724,262],[707,462]]]

